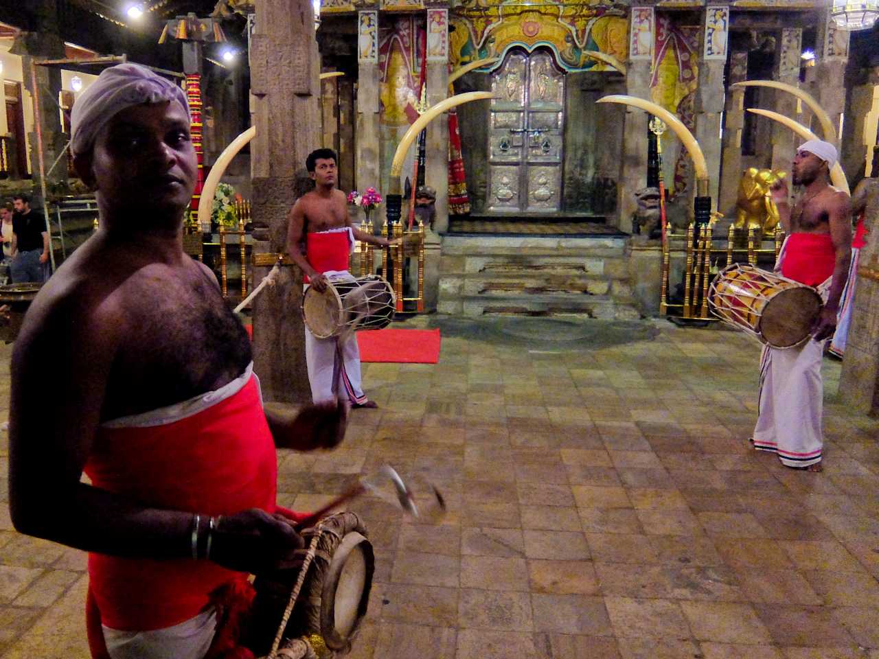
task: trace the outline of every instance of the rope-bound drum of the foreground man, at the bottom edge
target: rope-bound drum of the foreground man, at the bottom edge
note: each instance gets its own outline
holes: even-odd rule
[[[301,569],[257,576],[247,642],[255,655],[269,654],[281,627],[278,656],[309,656],[309,649],[325,656],[327,650],[345,654],[351,649],[360,621],[367,614],[375,568],[373,546],[366,536],[367,530],[355,513],[331,515],[302,532],[304,578]],[[285,619],[299,580],[301,588]]]

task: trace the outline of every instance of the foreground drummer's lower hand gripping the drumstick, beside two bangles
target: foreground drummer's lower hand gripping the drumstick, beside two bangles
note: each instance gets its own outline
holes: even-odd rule
[[[304,544],[289,521],[253,508],[215,518],[207,558],[237,572],[260,574],[294,567],[300,561],[295,552]]]

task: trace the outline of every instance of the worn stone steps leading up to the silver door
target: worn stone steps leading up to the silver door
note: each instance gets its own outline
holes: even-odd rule
[[[626,237],[446,235],[441,314],[640,318]]]

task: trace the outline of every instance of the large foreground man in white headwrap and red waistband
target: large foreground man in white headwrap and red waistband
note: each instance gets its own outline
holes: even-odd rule
[[[266,415],[247,333],[183,252],[197,162],[178,85],[106,69],[71,123],[101,222],[15,343],[12,523],[90,552],[94,657],[202,659],[222,626],[217,597],[301,547],[275,503],[275,445],[337,445],[346,409]]]

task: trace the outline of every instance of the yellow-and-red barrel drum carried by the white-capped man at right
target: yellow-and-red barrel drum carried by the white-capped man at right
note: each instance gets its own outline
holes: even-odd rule
[[[723,322],[774,348],[802,344],[824,306],[811,286],[745,264],[718,273],[708,303]]]

